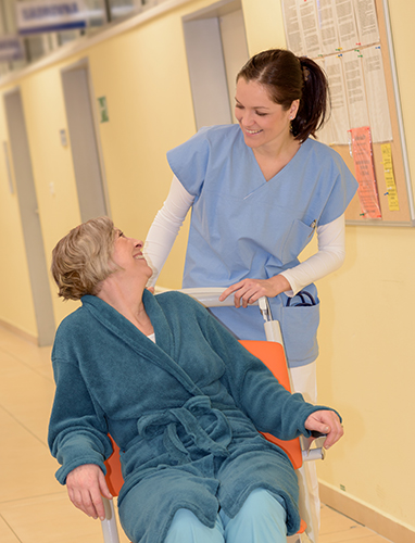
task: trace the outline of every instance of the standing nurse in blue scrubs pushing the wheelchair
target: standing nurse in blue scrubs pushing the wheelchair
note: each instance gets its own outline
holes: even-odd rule
[[[191,209],[183,287],[226,289],[222,299],[232,295],[235,307],[213,312],[243,339],[265,339],[251,304],[268,296],[294,390],[315,403],[314,281],[343,263],[344,211],[357,184],[340,155],[313,139],[326,117],[328,83],[311,59],[280,49],[254,55],[237,76],[235,101],[239,125],[202,128],[167,153],[174,178],[146,243],[152,285]],[[315,232],[318,251],[300,263]],[[314,521],[305,520],[315,542],[319,502],[311,464]]]

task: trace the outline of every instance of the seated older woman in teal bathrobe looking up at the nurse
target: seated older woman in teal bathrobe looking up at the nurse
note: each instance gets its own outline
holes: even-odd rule
[[[87,515],[111,497],[108,433],[121,447],[118,497],[134,543],[285,542],[298,485],[281,439],[341,435],[338,415],[291,395],[198,302],[146,290],[142,242],[106,218],[53,250],[59,294],[83,305],[60,325],[49,444],[58,480]]]

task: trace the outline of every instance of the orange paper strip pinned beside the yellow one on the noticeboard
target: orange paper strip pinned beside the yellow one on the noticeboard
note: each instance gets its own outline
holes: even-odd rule
[[[359,182],[359,200],[362,216],[365,218],[381,218],[379,194],[376,185],[374,159],[372,153],[370,128],[352,128],[351,144],[355,175]]]

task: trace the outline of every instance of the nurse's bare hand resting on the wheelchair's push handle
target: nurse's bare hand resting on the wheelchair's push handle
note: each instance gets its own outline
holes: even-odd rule
[[[269,279],[242,279],[228,287],[219,296],[219,302],[234,294],[235,307],[247,307],[262,296],[275,298],[281,292],[291,290],[291,285],[282,275]]]

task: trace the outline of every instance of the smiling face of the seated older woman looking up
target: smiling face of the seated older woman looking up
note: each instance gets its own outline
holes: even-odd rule
[[[124,272],[131,272],[140,276],[151,277],[152,269],[142,254],[143,243],[134,238],[127,238],[115,228],[114,249],[112,258]]]

